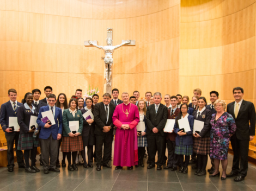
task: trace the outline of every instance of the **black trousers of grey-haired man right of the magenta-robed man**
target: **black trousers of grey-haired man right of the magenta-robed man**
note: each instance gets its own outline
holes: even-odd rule
[[[149,153],[149,163],[150,164],[157,164],[162,165],[164,160],[164,144],[166,142],[165,136],[161,136],[160,134],[156,135],[148,135],[147,141],[148,141],[148,153]],[[156,157],[156,151],[157,151],[157,162],[155,162]]]

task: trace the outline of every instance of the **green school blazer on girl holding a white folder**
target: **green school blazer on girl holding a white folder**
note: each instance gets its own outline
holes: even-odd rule
[[[79,129],[78,132],[80,132],[80,135],[82,135],[82,131],[83,131],[83,115],[82,112],[80,110],[76,111],[75,117],[73,117],[73,114],[70,113],[69,109],[66,109],[63,111],[63,115],[62,115],[62,123],[63,123],[63,136],[64,137],[69,137],[68,133],[70,133],[70,129],[69,129],[69,122],[70,121],[75,121],[78,120],[79,121]]]

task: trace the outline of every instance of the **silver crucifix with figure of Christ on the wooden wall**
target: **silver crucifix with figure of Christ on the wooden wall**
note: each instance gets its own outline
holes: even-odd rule
[[[98,46],[97,41],[84,41],[84,46],[95,46],[97,48],[103,49],[105,56],[102,56],[101,59],[104,60],[105,63],[105,79],[107,82],[107,86],[111,86],[112,79],[112,65],[114,63],[113,53],[114,50],[127,45],[127,46],[135,46],[135,40],[122,40],[122,43],[117,46],[112,46],[113,43],[113,28],[107,28],[107,46]],[[110,88],[111,90],[111,88]],[[107,91],[108,92],[108,91]]]

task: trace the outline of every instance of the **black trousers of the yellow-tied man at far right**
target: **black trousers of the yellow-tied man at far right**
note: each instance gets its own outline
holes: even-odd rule
[[[236,135],[233,135],[230,138],[230,142],[234,152],[232,171],[245,177],[248,171],[249,139],[239,140]]]

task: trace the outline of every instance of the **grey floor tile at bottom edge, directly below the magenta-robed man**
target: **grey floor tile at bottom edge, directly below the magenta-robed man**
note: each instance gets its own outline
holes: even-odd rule
[[[116,181],[112,191],[147,191],[147,182]]]

